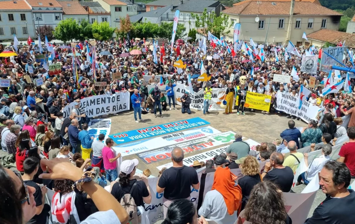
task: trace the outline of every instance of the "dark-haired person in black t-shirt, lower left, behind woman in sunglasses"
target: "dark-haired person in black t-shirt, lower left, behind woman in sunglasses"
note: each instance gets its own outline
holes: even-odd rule
[[[38,169],[39,159],[35,157],[29,157],[23,161],[23,182],[27,186],[34,187],[36,190],[33,194],[34,201],[36,202],[36,214],[27,222],[27,224],[45,224],[47,217],[49,216],[48,212],[50,211],[50,206],[49,204],[44,203],[44,196],[47,193],[47,187],[40,187],[33,181],[33,177],[35,174],[37,174]]]

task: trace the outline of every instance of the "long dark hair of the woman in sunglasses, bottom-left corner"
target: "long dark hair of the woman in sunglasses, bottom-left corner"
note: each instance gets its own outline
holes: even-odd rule
[[[22,224],[23,211],[20,198],[26,197],[26,193],[16,191],[15,182],[1,164],[0,180],[0,223]]]

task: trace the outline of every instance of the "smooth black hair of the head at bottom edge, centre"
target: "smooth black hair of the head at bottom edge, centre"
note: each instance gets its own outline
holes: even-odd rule
[[[186,224],[192,223],[193,219],[196,219],[196,209],[193,203],[187,199],[179,199],[173,201],[168,208],[166,217],[170,219],[170,222],[166,219],[162,224]]]

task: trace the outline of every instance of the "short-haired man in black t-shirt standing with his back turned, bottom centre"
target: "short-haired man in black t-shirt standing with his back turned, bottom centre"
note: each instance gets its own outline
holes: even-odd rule
[[[196,170],[193,167],[185,166],[184,151],[180,147],[175,147],[171,152],[173,166],[164,170],[157,183],[157,193],[164,191],[164,218],[169,205],[178,199],[190,198],[191,186],[194,189],[200,188]]]

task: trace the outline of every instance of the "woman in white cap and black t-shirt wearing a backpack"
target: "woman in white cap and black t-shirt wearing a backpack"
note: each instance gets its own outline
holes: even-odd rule
[[[149,190],[148,179],[146,176],[141,176],[140,179],[142,181],[135,179],[137,165],[138,159],[124,160],[121,163],[119,174],[120,179],[112,186],[111,195],[113,195],[118,201],[121,201],[121,198],[125,194],[130,193],[142,215],[142,224],[149,224],[149,219],[145,219],[147,214],[144,209],[144,203],[150,204],[152,202],[152,195]]]

